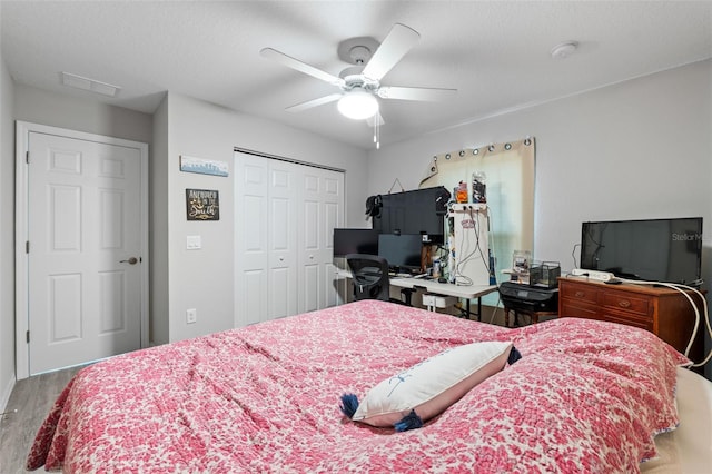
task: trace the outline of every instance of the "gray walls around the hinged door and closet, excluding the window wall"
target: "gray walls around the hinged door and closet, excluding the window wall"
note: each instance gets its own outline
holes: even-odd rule
[[[0,61],[1,62],[1,61]],[[151,116],[118,107],[13,85],[2,63],[2,144],[0,152],[0,393],[14,382],[14,120],[81,130],[149,144],[150,337],[155,344],[230,328],[234,294],[234,176],[215,178],[179,171],[179,156],[219,159],[233,165],[236,146],[346,171],[346,221],[363,226],[367,157],[363,150],[264,121],[199,100],[170,95]],[[14,102],[14,108],[9,107]],[[216,184],[217,182],[217,184]],[[186,188],[218,189],[219,223],[188,223]],[[204,248],[188,254],[187,235],[200,234]],[[8,263],[8,265],[6,265]],[[198,309],[186,325],[185,310]],[[239,309],[237,309],[239,310]],[[4,401],[0,398],[4,404]]]

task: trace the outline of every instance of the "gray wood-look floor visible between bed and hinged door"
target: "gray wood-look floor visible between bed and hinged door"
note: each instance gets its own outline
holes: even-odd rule
[[[36,375],[14,384],[0,419],[0,473],[27,472],[24,460],[37,431],[55,399],[80,368]]]

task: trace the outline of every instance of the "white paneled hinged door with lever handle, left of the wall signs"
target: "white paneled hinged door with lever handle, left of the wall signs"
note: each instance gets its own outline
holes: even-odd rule
[[[142,346],[145,150],[30,131],[29,373]]]

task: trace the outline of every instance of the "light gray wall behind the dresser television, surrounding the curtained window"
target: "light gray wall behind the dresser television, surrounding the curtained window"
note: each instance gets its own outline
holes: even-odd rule
[[[436,154],[526,136],[536,138],[534,258],[573,268],[585,220],[702,216],[712,287],[712,60],[383,147],[369,156],[369,192],[395,177],[416,188]]]

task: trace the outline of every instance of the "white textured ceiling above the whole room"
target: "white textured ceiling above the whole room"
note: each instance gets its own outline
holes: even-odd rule
[[[382,80],[442,87],[442,102],[382,100],[382,144],[712,57],[710,1],[7,1],[2,53],[12,78],[151,113],[166,91],[369,149],[373,130],[332,102],[338,91],[259,55],[271,47],[338,75],[338,43],[380,41],[396,22],[419,42]],[[551,49],[580,43],[564,59]],[[105,98],[60,72],[119,86]]]

